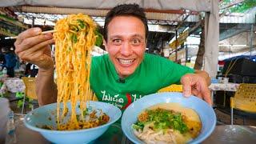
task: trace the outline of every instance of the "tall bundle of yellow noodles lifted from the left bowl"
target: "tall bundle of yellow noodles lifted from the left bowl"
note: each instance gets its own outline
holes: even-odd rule
[[[54,33],[54,40],[58,78],[58,130],[78,130],[101,124],[99,120],[98,123],[86,121],[84,115],[86,101],[93,98],[90,90],[90,53],[97,37],[95,29],[94,21],[84,14],[70,14],[67,18],[60,19],[54,27],[57,31]],[[71,116],[68,122],[62,124],[68,112],[67,102],[71,105]],[[79,118],[76,114],[77,102],[80,102]]]

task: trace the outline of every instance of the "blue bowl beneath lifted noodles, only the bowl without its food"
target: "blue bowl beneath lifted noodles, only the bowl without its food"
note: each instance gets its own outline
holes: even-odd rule
[[[25,126],[31,130],[38,131],[47,140],[54,143],[88,143],[101,136],[109,126],[116,122],[122,115],[121,110],[118,107],[105,102],[90,102],[92,109],[101,109],[110,117],[110,121],[105,125],[83,129],[83,130],[46,130],[39,127],[42,126],[56,126],[55,115],[56,115],[57,103],[53,103],[46,106],[41,106],[38,109],[31,111],[26,114],[24,119]],[[70,108],[70,105],[68,105]],[[77,107],[77,111],[79,111]]]

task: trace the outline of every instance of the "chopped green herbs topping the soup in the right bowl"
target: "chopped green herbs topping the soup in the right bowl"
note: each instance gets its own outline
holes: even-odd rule
[[[146,124],[152,122],[154,123],[153,130],[174,129],[180,131],[181,134],[186,133],[188,130],[185,122],[182,121],[182,114],[175,113],[172,110],[158,108],[155,110],[146,110],[144,114],[146,114],[144,115],[144,118],[146,116],[146,120],[140,121],[138,118],[138,122],[135,122],[132,126],[135,130],[142,130]]]

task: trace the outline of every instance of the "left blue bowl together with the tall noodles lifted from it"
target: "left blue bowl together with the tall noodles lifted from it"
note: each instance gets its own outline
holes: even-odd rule
[[[94,102],[90,90],[92,47],[102,40],[95,22],[85,14],[70,14],[54,26],[57,102],[26,114],[25,126],[54,143],[88,143],[118,121],[122,112]]]

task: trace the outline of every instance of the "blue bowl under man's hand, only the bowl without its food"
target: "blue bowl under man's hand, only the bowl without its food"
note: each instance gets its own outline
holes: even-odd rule
[[[122,131],[126,137],[134,143],[143,143],[133,133],[132,124],[137,121],[138,114],[150,106],[154,106],[163,102],[177,102],[182,106],[194,109],[202,122],[202,130],[197,138],[194,138],[189,143],[199,143],[206,139],[214,131],[216,125],[216,115],[211,106],[202,99],[190,96],[185,98],[182,93],[158,93],[150,94],[133,102],[126,108],[122,114]]]

